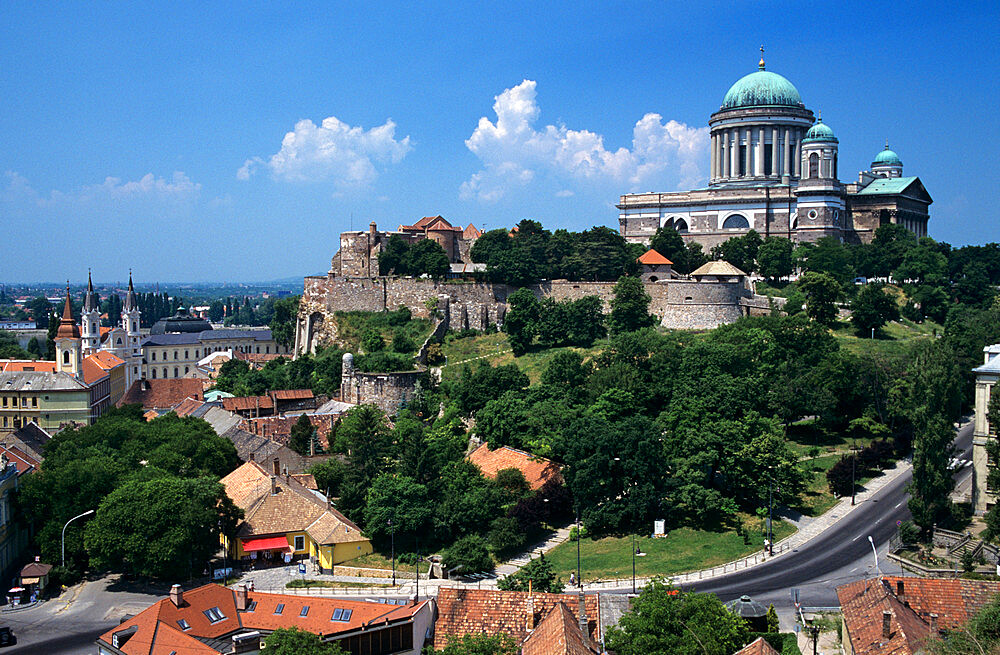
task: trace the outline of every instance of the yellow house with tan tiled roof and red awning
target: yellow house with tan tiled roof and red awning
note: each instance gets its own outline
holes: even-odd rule
[[[244,515],[235,538],[223,539],[234,559],[309,559],[321,571],[330,571],[372,552],[357,525],[326,496],[282,474],[277,461],[270,472],[247,462],[221,482]]]

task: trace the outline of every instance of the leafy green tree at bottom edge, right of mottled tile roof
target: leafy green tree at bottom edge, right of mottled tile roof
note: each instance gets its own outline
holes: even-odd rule
[[[653,579],[607,633],[618,655],[730,655],[748,640],[746,621],[714,594],[680,591]]]

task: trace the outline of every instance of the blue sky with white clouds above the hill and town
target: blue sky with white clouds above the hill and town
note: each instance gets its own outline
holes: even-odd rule
[[[138,4],[0,6],[0,281],[313,274],[435,214],[617,227],[705,183],[761,44],[845,181],[889,139],[931,236],[1000,239],[996,2]]]

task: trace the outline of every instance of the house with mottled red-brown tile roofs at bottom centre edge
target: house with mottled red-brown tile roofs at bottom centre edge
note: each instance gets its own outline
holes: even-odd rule
[[[560,607],[561,606],[561,607]],[[437,598],[438,617],[434,622],[434,648],[442,649],[449,638],[475,634],[507,634],[521,645],[524,653],[599,653],[602,640],[600,599],[597,594],[547,594],[499,589],[442,587]],[[555,617],[551,615],[556,613]],[[542,628],[543,635],[534,633]],[[575,621],[568,626],[568,621]],[[575,628],[575,630],[573,629]],[[552,635],[563,635],[577,650],[540,650]],[[558,637],[556,637],[558,639]]]

